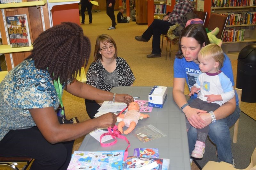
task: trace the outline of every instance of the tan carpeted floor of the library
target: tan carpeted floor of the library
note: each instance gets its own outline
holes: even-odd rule
[[[118,11],[115,11],[117,14]],[[125,15],[125,14],[124,14]],[[92,43],[92,52],[89,64],[93,61],[93,49],[96,37],[99,34],[106,33],[114,38],[116,41],[118,56],[123,57],[130,65],[134,75],[134,86],[153,86],[173,85],[173,61],[175,52],[171,53],[171,60],[165,59],[166,40],[164,40],[164,50],[160,58],[147,58],[146,55],[151,53],[152,39],[148,42],[139,42],[134,39],[134,36],[141,35],[146,29],[147,25],[137,25],[135,22],[117,24],[116,30],[107,30],[111,26],[111,20],[107,16],[106,11],[92,13],[92,24],[89,25],[88,15],[85,16],[85,25],[81,25],[84,34],[90,38]],[[173,47],[172,49],[177,49]],[[237,61],[232,61],[234,79],[236,81],[236,67]],[[87,71],[88,67],[85,69]],[[188,89],[186,87],[186,93]],[[88,120],[89,117],[85,110],[84,99],[80,99],[64,92],[63,103],[67,118],[77,116],[79,121]],[[256,120],[256,103],[242,102],[241,110]],[[241,124],[241,123],[240,123]],[[239,138],[238,133],[238,138]],[[77,150],[84,137],[76,139],[73,150]],[[192,165],[192,170],[197,170],[197,166]]]

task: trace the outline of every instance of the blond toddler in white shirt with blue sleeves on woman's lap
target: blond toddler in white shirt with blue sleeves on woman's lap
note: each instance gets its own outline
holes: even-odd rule
[[[217,44],[208,44],[198,53],[199,69],[196,84],[191,87],[189,96],[197,93],[197,98],[190,107],[206,110],[216,122],[213,113],[218,107],[232,99],[235,95],[230,79],[220,70],[224,62],[224,54]],[[199,92],[200,91],[200,92]],[[186,119],[187,130],[190,124]],[[208,135],[209,125],[197,129],[197,140],[191,157],[201,159],[204,156],[205,140]]]

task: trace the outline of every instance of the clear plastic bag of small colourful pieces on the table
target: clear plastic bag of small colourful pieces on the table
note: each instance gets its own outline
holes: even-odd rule
[[[135,136],[143,143],[166,136],[166,134],[151,124],[137,129],[135,134]]]

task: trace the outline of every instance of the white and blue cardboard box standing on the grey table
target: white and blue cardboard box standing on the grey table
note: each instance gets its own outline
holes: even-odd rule
[[[155,85],[148,94],[148,106],[163,108],[167,97],[167,87]]]

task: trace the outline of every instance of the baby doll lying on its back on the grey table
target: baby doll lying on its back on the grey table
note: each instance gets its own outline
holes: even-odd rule
[[[128,106],[128,112],[125,114],[119,115],[120,118],[123,118],[121,122],[118,123],[117,129],[123,133],[123,127],[124,125],[128,127],[128,129],[124,130],[124,134],[127,135],[128,133],[132,132],[132,130],[135,128],[136,124],[139,121],[140,116],[143,118],[149,117],[148,114],[142,114],[139,112],[140,106],[136,102],[131,102]]]

